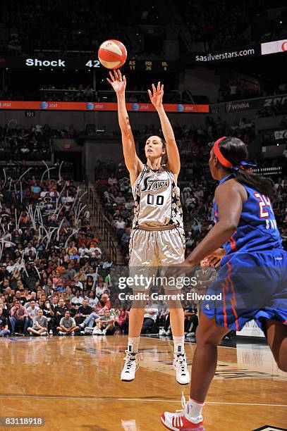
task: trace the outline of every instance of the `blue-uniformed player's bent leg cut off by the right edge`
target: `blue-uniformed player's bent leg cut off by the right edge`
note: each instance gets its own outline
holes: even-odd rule
[[[287,326],[276,320],[264,319],[267,342],[282,371],[287,372]]]

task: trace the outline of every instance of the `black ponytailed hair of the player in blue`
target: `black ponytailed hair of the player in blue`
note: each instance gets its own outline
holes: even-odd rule
[[[241,161],[248,160],[248,149],[244,142],[236,137],[226,137],[219,142],[221,154],[232,163],[233,166],[240,165]],[[245,184],[257,192],[274,199],[274,182],[266,177],[261,177],[247,170],[238,169],[233,171],[236,175],[236,181]]]

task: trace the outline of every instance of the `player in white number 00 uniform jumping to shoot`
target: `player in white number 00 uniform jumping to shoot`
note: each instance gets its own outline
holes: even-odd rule
[[[145,144],[147,163],[142,163],[136,153],[133,132],[126,110],[126,77],[120,70],[110,72],[108,82],[114,88],[118,100],[118,123],[121,127],[123,156],[130,173],[135,199],[133,232],[130,235],[130,275],[156,275],[157,268],[184,261],[185,239],[179,189],[176,185],[181,162],[171,123],[162,105],[164,86],[152,85],[149,98],[157,109],[164,139],[151,136]],[[163,156],[168,157],[166,165]],[[174,288],[173,288],[174,289]],[[167,287],[166,287],[167,290]],[[147,286],[135,286],[134,291],[147,294]],[[169,291],[173,294],[173,291]],[[178,293],[178,291],[176,292]],[[133,303],[129,315],[128,350],[121,380],[135,378],[139,365],[138,346],[147,301]],[[173,368],[181,385],[190,382],[184,351],[184,313],[181,302],[169,304],[171,330],[173,332]]]

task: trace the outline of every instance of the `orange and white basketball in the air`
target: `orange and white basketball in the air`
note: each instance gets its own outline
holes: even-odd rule
[[[126,46],[118,40],[106,40],[99,46],[98,57],[105,68],[118,69],[126,62]]]

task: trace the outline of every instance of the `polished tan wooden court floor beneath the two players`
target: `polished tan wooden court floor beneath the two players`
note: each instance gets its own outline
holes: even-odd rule
[[[141,338],[133,382],[121,382],[126,336],[0,340],[0,416],[44,417],[29,430],[156,431],[163,411],[181,408],[171,366],[173,344]],[[186,345],[191,366],[195,344]],[[287,428],[287,375],[267,346],[219,347],[204,406],[206,431]],[[18,427],[1,426],[1,430]]]

